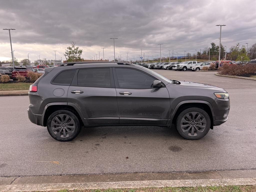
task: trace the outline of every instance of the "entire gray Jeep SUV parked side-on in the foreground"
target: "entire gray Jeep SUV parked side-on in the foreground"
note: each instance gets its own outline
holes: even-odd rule
[[[186,139],[204,137],[227,121],[229,94],[222,88],[169,80],[127,62],[70,62],[45,68],[30,86],[28,117],[58,141],[81,127],[176,124]]]

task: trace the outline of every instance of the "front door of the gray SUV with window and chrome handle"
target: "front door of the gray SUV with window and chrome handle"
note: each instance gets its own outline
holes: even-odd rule
[[[170,98],[167,88],[152,88],[156,78],[138,69],[113,68],[120,124],[166,125]]]

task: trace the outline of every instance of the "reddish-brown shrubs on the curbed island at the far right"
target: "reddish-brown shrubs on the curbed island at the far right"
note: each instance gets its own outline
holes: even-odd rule
[[[232,75],[232,76],[240,76],[247,73],[254,73],[256,71],[256,65],[254,64],[246,64],[246,65],[231,65],[229,66],[227,63],[223,64],[219,68],[219,73],[222,75]]]

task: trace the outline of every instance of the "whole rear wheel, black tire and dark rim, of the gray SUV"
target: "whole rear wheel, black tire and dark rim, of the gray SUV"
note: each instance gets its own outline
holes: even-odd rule
[[[62,115],[63,115],[63,118],[58,118],[58,117],[61,117]],[[57,117],[57,119],[59,119],[59,121],[54,120],[54,119],[56,119],[56,117]],[[61,121],[61,119],[63,119],[62,120],[63,122]],[[72,122],[71,122],[71,119],[73,120]],[[63,124],[65,124],[64,123],[65,121],[67,123],[67,125],[65,125],[66,127],[64,127],[64,125],[63,125]],[[60,122],[62,122],[62,124]],[[57,124],[59,124],[59,125],[57,125]],[[73,128],[71,129],[69,127],[74,127],[74,129]],[[80,125],[79,119],[73,112],[68,111],[68,110],[58,110],[58,111],[53,112],[49,116],[49,118],[47,120],[47,130],[48,130],[49,134],[52,136],[52,138],[54,138],[58,141],[71,141],[81,131],[81,125]],[[65,131],[65,133],[64,133],[64,131]],[[68,136],[67,134],[71,134],[71,135]],[[65,135],[66,135],[66,137],[65,137]]]

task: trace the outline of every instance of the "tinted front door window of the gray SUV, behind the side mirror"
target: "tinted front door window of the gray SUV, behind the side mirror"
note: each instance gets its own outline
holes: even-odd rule
[[[149,89],[155,80],[135,69],[115,68],[115,71],[119,87],[123,89]]]

